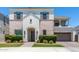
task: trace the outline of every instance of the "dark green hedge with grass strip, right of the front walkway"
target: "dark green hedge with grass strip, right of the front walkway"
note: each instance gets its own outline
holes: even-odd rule
[[[56,43],[56,35],[40,35],[39,40],[32,47],[64,47]]]

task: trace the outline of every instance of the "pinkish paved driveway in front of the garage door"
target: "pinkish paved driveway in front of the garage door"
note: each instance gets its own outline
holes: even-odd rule
[[[57,42],[64,45],[65,48],[72,52],[79,52],[79,43],[78,42]]]

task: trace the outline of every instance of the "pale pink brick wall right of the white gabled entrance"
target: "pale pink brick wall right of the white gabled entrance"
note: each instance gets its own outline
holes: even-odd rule
[[[52,35],[54,34],[53,32],[53,20],[46,20],[46,21],[40,21],[40,35],[43,35],[43,30],[47,31],[47,35]]]

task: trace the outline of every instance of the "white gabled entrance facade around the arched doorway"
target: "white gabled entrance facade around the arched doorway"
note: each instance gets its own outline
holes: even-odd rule
[[[31,20],[31,23],[30,23],[30,20]],[[35,41],[36,41],[39,37],[39,18],[33,14],[29,14],[23,19],[23,39],[25,42],[28,41],[27,30],[29,28],[35,29]],[[25,34],[24,34],[24,31],[25,31]]]

